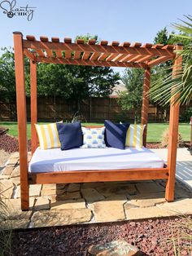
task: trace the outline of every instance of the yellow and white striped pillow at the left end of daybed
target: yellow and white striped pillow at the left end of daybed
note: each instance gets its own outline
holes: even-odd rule
[[[61,146],[56,123],[48,125],[36,124],[35,127],[39,139],[39,147],[41,149],[59,148]]]

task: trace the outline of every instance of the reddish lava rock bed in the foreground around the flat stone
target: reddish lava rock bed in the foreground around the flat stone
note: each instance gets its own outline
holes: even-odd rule
[[[172,232],[175,239],[178,237],[178,229],[172,228],[172,225],[182,221],[181,218],[157,218],[138,222],[85,224],[15,231],[13,232],[12,255],[85,256],[89,255],[90,245],[124,240],[141,249],[141,255],[171,256],[175,255]],[[189,231],[186,232],[189,233]],[[177,246],[176,240],[175,243]],[[187,242],[180,238],[180,255],[190,255],[186,246]]]

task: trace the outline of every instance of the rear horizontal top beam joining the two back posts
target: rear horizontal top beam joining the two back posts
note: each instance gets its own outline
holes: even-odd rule
[[[55,64],[70,64],[70,65],[85,65],[85,66],[100,66],[100,67],[129,67],[129,68],[146,68],[146,64],[132,64],[116,61],[98,61],[98,60],[59,60],[57,58],[41,58],[37,57],[37,62],[55,63]]]

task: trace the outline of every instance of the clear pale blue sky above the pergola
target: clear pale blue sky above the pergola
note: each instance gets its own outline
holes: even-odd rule
[[[109,42],[153,42],[159,29],[172,31],[172,22],[192,14],[191,0],[17,0],[15,7],[27,4],[36,7],[31,21],[8,18],[0,9],[0,47],[13,45],[13,31],[60,40],[90,33]]]

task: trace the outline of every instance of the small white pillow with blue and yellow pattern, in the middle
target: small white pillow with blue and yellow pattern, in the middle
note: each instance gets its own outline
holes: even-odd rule
[[[82,127],[83,145],[81,148],[106,148],[104,134],[105,127],[86,128]]]

